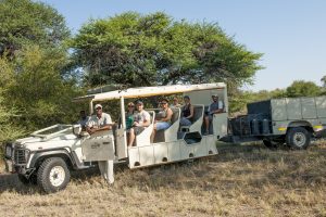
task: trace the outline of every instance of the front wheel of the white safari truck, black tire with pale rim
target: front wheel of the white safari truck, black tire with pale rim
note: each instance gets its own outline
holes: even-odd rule
[[[61,157],[47,158],[37,171],[37,183],[47,193],[65,189],[70,179],[71,173]]]

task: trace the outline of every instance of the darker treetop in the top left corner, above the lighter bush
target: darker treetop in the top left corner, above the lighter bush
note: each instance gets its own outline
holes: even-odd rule
[[[0,55],[11,59],[26,43],[57,47],[70,31],[64,17],[42,2],[0,0]]]

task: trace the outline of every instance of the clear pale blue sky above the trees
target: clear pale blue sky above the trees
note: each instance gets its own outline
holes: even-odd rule
[[[89,18],[126,11],[163,11],[175,20],[214,22],[248,50],[264,53],[253,86],[286,88],[293,80],[321,85],[326,75],[325,0],[42,0],[54,7],[77,33]]]

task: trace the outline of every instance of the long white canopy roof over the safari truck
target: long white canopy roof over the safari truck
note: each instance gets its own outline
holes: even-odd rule
[[[89,94],[75,98],[74,101],[91,100],[92,102],[100,102],[106,100],[114,100],[120,98],[147,98],[153,95],[185,93],[190,91],[211,90],[211,89],[225,89],[224,82],[214,84],[200,84],[200,85],[171,85],[171,86],[158,86],[158,87],[140,87],[128,88],[122,90],[113,90],[103,92],[103,88],[96,88],[89,90]]]

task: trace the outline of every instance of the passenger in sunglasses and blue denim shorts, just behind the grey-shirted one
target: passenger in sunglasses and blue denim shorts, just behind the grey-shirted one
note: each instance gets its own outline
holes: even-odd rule
[[[162,99],[160,102],[162,110],[155,116],[154,129],[151,135],[151,143],[153,143],[155,133],[158,130],[167,129],[171,126],[171,118],[173,115],[172,110],[168,107],[168,101],[166,99]]]

